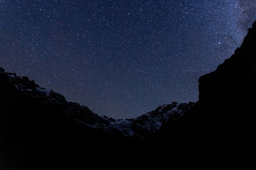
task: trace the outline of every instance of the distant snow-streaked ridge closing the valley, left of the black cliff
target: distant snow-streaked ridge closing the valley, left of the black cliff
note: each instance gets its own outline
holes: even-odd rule
[[[104,124],[95,123],[92,125],[81,121],[80,123],[88,125],[91,128],[105,130],[105,132],[115,131],[127,137],[143,138],[145,135],[151,135],[159,131],[166,123],[172,123],[182,118],[184,113],[193,105],[194,103],[178,104],[174,102],[169,105],[159,106],[155,111],[151,111],[134,119],[114,120],[105,117],[105,120],[108,122]]]

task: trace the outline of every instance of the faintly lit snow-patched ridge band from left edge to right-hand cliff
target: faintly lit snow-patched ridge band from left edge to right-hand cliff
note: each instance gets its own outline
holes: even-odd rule
[[[159,106],[156,110],[140,115],[138,118],[117,120],[93,113],[86,106],[80,106],[79,103],[68,102],[63,95],[39,86],[33,80],[29,80],[28,77],[19,77],[16,73],[5,72],[3,68],[0,68],[0,74],[1,77],[5,77],[1,81],[7,81],[9,86],[18,92],[32,98],[41,98],[44,103],[64,106],[68,116],[78,123],[107,133],[114,130],[126,137],[144,138],[144,136],[152,135],[159,131],[166,122],[170,123],[180,119],[193,106],[192,102],[181,104],[173,102]]]

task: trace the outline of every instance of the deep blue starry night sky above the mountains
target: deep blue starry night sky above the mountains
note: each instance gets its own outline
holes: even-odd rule
[[[255,20],[255,0],[0,0],[0,67],[135,118],[197,101]]]

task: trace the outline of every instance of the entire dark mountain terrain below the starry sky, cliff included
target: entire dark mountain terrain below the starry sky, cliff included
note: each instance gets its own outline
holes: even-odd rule
[[[114,120],[0,69],[0,169],[123,169],[256,164],[256,23],[199,79],[197,103]]]

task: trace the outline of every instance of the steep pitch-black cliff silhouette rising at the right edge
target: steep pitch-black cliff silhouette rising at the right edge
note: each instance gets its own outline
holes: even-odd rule
[[[256,22],[235,54],[199,79],[191,111],[193,155],[225,162],[255,162]]]

